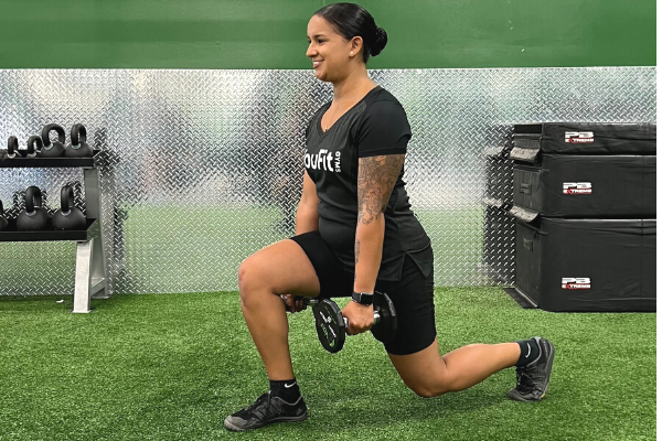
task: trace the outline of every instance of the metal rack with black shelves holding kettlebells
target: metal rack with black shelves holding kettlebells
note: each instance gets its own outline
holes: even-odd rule
[[[0,161],[0,169],[82,168],[85,184],[85,230],[18,232],[11,226],[0,232],[2,241],[76,241],[76,279],[73,313],[90,312],[92,299],[108,299],[106,262],[102,228],[102,192],[99,170],[95,159],[102,154],[94,150],[93,158],[14,158]]]

